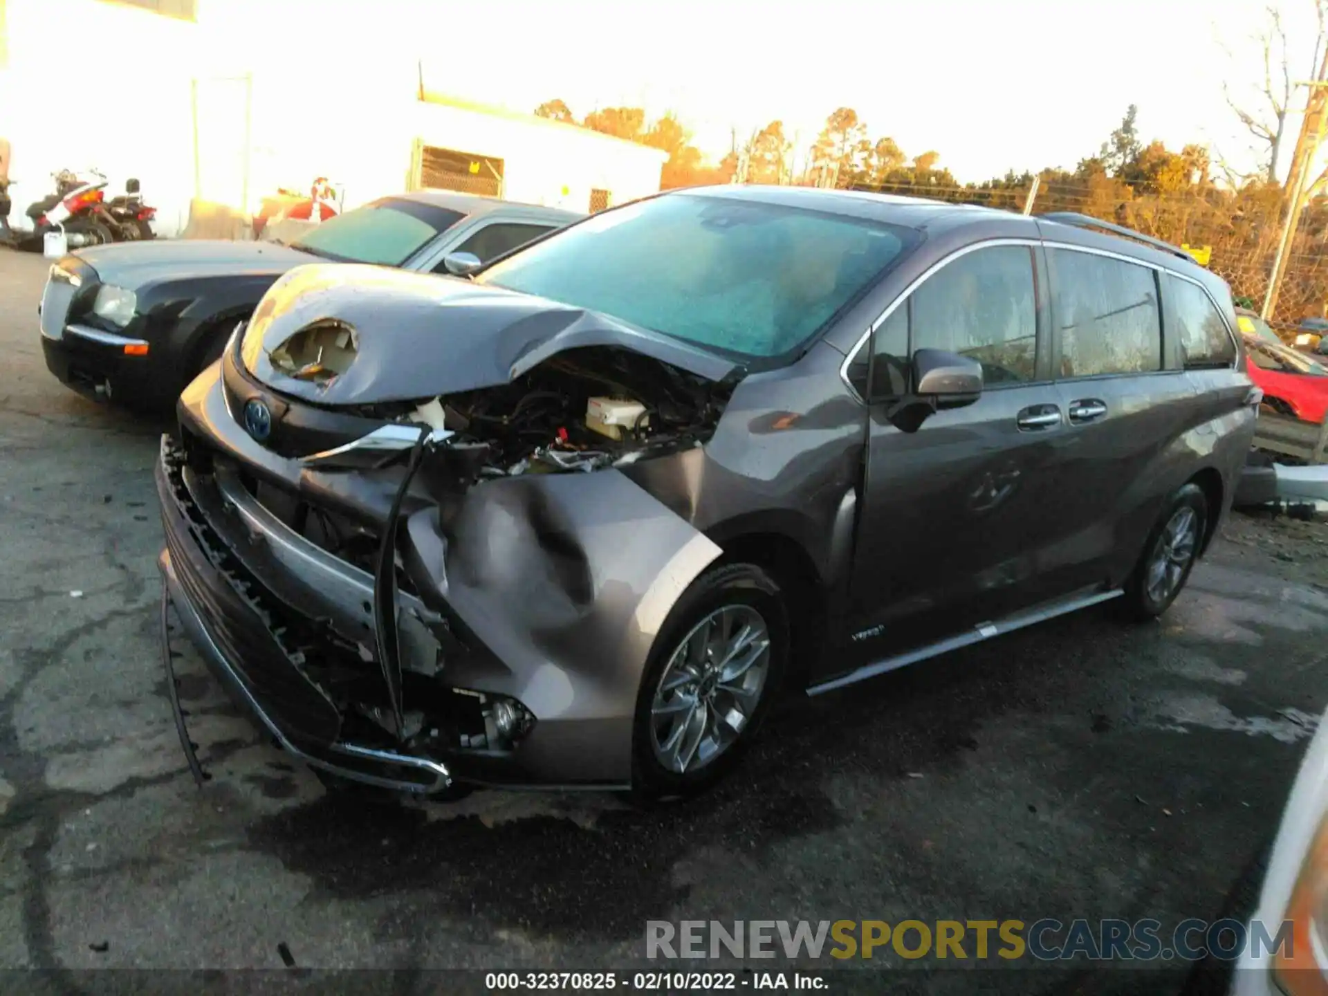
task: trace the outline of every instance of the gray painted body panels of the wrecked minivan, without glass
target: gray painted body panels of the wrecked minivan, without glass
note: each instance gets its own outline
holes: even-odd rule
[[[555,730],[558,744],[537,748],[533,740],[518,750],[529,754],[517,758],[521,778],[628,777],[632,712],[657,629],[641,624],[641,612],[663,619],[718,552],[778,562],[799,612],[823,627],[819,652],[805,661],[817,684],[991,620],[1120,587],[1166,497],[1187,479],[1211,475],[1202,479],[1216,501],[1214,527],[1231,502],[1255,417],[1243,360],[1231,369],[1187,372],[1171,344],[1155,373],[1050,376],[1056,340],[1040,262],[1044,238],[1174,270],[1207,287],[1234,328],[1224,284],[1197,266],[1122,239],[992,211],[825,191],[713,195],[861,211],[912,223],[923,239],[805,355],[742,377],[704,448],[622,471],[482,482],[465,491],[459,509],[456,498],[413,485],[401,551],[408,572],[426,603],[433,598],[436,608],[454,612],[475,637],[470,652],[446,667],[470,687],[522,689],[551,717],[578,717]],[[1042,278],[1040,378],[992,386],[916,432],[900,430],[841,376],[846,360],[867,329],[956,252],[1011,240],[1035,251]],[[564,348],[612,344],[703,376],[728,372],[726,364],[721,371],[717,361],[695,361],[691,348],[663,336],[586,312],[567,315],[538,299],[400,274],[351,276],[305,270],[288,278],[288,295],[270,299],[267,348],[311,320],[341,319],[356,328],[367,360],[360,371],[356,361],[328,388],[292,388],[324,404],[503,382],[529,368],[521,357],[535,349],[543,360]],[[308,295],[297,292],[301,280]],[[1162,303],[1169,307],[1165,290]],[[485,335],[449,335],[437,317],[449,313]],[[256,319],[254,341],[267,335],[264,320]],[[437,353],[406,349],[430,335]],[[414,363],[404,367],[401,356]],[[264,373],[260,363],[250,365]],[[1101,398],[1106,418],[1032,434],[1016,424],[1032,405],[1068,410],[1085,397]],[[381,474],[324,475],[262,452],[246,456],[255,444],[224,413],[215,369],[185,393],[181,418],[219,450],[305,495],[385,518],[392,489]],[[444,506],[450,510],[438,513]],[[548,530],[560,537],[554,551],[537,542]],[[629,550],[639,552],[625,556]],[[511,564],[510,572],[486,575],[497,563]],[[679,563],[687,568],[676,576],[665,571],[668,584],[647,584],[661,564]],[[542,685],[542,676],[556,681]],[[550,736],[542,725],[539,736]]]

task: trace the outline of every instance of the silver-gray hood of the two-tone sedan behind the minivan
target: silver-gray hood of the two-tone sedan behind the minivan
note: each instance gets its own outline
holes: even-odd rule
[[[88,263],[102,283],[137,290],[161,279],[235,275],[279,276],[315,259],[308,252],[275,242],[224,239],[150,239],[92,246],[74,255]]]

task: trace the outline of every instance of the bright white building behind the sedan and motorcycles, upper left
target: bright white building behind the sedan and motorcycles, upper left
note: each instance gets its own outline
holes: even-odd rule
[[[73,24],[133,41],[110,46],[113,65],[84,65],[52,46]],[[319,175],[347,207],[422,186],[574,210],[659,190],[656,149],[425,93],[402,27],[371,0],[0,0],[11,222],[53,171],[89,166],[108,197],[137,177],[163,234],[194,198],[256,211]]]

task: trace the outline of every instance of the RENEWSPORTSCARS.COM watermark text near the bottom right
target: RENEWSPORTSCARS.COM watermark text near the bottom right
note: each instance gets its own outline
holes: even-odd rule
[[[1163,930],[1161,920],[648,920],[645,956],[833,957],[898,956],[946,960],[1027,959],[1040,961],[1197,961],[1207,955],[1235,960],[1247,948],[1256,955],[1292,957],[1289,920],[1270,930],[1260,920],[1182,920]]]

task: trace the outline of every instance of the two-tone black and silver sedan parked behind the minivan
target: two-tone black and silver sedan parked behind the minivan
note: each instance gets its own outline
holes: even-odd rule
[[[41,347],[50,372],[74,390],[166,408],[288,270],[337,262],[463,274],[580,216],[421,191],[348,211],[291,244],[185,239],[80,250],[50,267]]]

